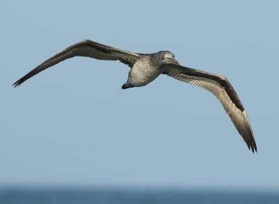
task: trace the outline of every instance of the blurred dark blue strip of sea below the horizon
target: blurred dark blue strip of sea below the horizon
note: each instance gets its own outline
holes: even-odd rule
[[[279,203],[279,194],[260,191],[2,188],[1,204]]]

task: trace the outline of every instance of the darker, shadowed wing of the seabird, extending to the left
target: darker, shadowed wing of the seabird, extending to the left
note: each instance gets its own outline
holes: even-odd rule
[[[71,45],[70,47],[63,49],[61,52],[47,59],[47,61],[41,63],[40,65],[38,65],[38,67],[31,70],[31,72],[16,81],[13,86],[20,86],[20,84],[22,84],[30,77],[38,74],[38,72],[41,72],[47,68],[52,67],[53,65],[56,65],[57,63],[60,63],[61,61],[72,58],[74,56],[88,56],[91,58],[110,61],[119,60],[121,61],[121,63],[125,63],[126,65],[129,65],[130,68],[132,68],[140,54],[128,52],[122,49],[116,49],[114,47],[102,45],[91,40],[82,40],[80,42],[77,42],[75,45]]]

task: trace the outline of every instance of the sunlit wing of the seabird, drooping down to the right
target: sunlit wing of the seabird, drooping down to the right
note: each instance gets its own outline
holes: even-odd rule
[[[163,74],[205,88],[207,91],[213,93],[223,105],[232,123],[234,123],[236,129],[239,131],[239,134],[246,141],[248,148],[252,148],[252,152],[254,152],[254,149],[257,152],[255,138],[246,112],[234,88],[232,88],[232,85],[229,84],[229,81],[225,77],[186,68],[181,65],[169,64],[166,66],[167,68]]]

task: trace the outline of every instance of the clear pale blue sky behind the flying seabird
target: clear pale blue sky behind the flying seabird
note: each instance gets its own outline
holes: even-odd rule
[[[0,185],[279,189],[278,1],[3,1]],[[221,74],[243,103],[248,150],[211,93],[160,76],[121,90],[130,68],[76,57],[13,89],[80,40],[169,50]]]

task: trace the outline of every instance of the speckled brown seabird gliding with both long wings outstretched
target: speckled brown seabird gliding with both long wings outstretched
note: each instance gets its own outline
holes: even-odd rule
[[[160,74],[167,74],[167,76],[174,79],[205,88],[218,98],[239,134],[246,141],[248,148],[252,149],[252,152],[254,150],[257,152],[255,138],[246,111],[229,81],[221,75],[181,66],[174,59],[172,52],[160,51],[153,54],[138,54],[102,45],[91,40],[82,40],[47,59],[47,61],[41,63],[16,81],[13,86],[20,86],[20,84],[38,74],[38,72],[74,56],[87,56],[108,61],[119,60],[121,63],[128,65],[131,69],[128,74],[128,80],[122,86],[123,89],[145,86]]]

